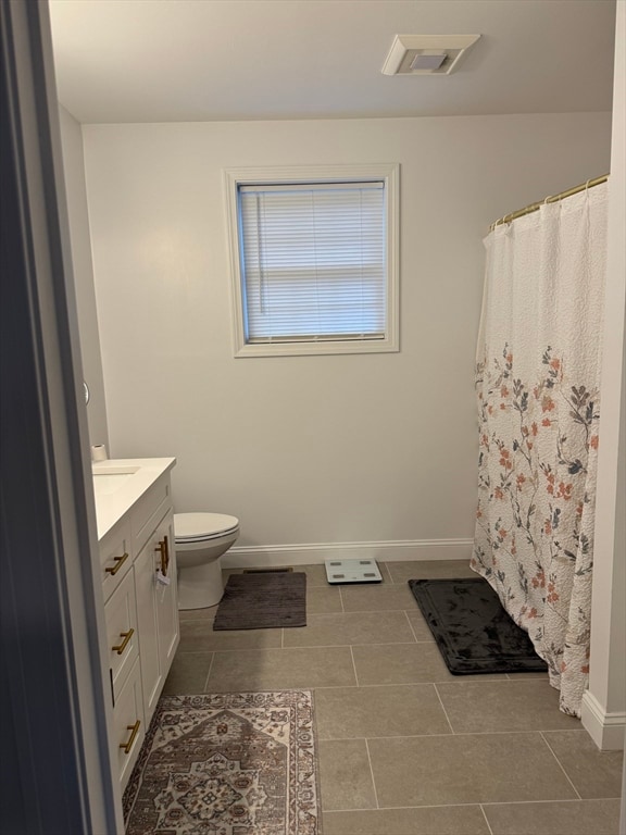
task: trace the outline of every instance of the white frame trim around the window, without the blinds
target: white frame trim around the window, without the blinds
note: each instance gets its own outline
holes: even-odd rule
[[[386,329],[380,339],[324,339],[249,344],[245,333],[238,188],[272,184],[350,183],[380,180],[385,184],[387,219]],[[354,165],[297,165],[237,167],[224,170],[224,191],[228,221],[233,340],[235,357],[296,357],[333,353],[387,353],[399,347],[399,179],[398,163]]]

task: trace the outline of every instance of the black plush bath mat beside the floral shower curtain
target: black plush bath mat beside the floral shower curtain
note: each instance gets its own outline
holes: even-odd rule
[[[454,675],[548,669],[486,579],[410,579],[409,586]]]

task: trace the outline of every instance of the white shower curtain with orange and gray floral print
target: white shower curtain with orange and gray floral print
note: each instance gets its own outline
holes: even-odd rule
[[[580,715],[589,671],[608,184],[497,226],[476,358],[472,568]]]

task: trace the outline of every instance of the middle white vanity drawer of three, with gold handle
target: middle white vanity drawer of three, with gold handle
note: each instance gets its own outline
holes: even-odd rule
[[[137,603],[135,595],[135,572],[129,571],[104,606],[107,622],[107,649],[113,702],[135,659],[139,656],[139,635],[137,631]]]

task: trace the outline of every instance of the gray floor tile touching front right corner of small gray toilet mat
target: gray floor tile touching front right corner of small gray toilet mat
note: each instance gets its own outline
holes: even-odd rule
[[[311,614],[306,626],[285,630],[286,647],[330,647],[346,644],[400,644],[413,640],[404,612]]]

